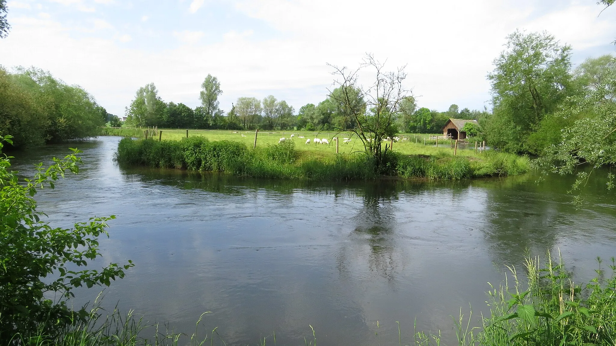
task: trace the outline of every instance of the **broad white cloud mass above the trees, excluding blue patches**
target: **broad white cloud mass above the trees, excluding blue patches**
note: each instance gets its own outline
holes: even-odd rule
[[[59,22],[15,17],[10,35],[0,40],[0,64],[50,70],[85,87],[115,114],[123,114],[134,91],[150,81],[164,100],[195,107],[208,73],[221,81],[221,107],[226,110],[237,97],[269,94],[299,109],[325,99],[332,81],[326,63],[353,67],[371,52],[388,58],[389,68],[408,63],[407,87],[421,95],[421,107],[446,110],[456,103],[482,108],[490,99],[485,75],[503,49],[505,36],[516,28],[548,30],[572,44],[574,52],[588,47],[614,52],[610,42],[616,22],[606,12],[597,17],[601,7],[594,2],[564,4],[545,13],[537,12],[537,4],[384,0],[375,7],[368,0],[240,0],[235,2],[237,10],[277,30],[277,36],[264,37],[258,27],[248,26],[212,40],[208,33],[205,43],[208,31],[203,27],[180,27],[173,35],[185,44],[173,49],[137,48],[132,41],[140,39],[132,32],[109,39],[76,39],[71,36],[75,28]],[[139,22],[139,17],[135,20]],[[105,23],[100,22],[99,28],[107,28]],[[39,51],[47,54],[36,54]]]

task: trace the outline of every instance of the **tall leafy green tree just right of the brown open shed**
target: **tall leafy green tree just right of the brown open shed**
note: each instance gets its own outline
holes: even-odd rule
[[[545,32],[515,31],[508,36],[506,50],[488,74],[494,111],[484,130],[493,146],[517,152],[543,150],[527,140],[572,91],[570,51]]]

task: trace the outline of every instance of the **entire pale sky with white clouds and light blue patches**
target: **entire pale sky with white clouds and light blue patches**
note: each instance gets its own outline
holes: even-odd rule
[[[615,54],[616,6],[597,0],[9,0],[0,65],[36,66],[90,92],[109,113],[153,82],[166,102],[200,105],[208,74],[221,108],[274,95],[295,110],[326,98],[331,65],[366,54],[406,66],[419,107],[490,108],[486,76],[516,29],[570,44],[573,66]],[[371,82],[370,71],[360,82]]]

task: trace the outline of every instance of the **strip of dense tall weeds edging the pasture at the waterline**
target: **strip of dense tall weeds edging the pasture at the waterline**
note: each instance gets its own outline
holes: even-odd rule
[[[126,138],[118,145],[117,159],[121,164],[306,180],[375,179],[379,175],[468,179],[521,174],[530,168],[529,159],[516,155],[460,150],[453,156],[446,148],[406,144],[418,147],[415,153],[404,153],[394,146],[378,172],[371,159],[360,151],[336,154],[330,150],[301,150],[304,145],[296,145],[294,140],[253,149],[243,142],[201,136],[161,142]]]

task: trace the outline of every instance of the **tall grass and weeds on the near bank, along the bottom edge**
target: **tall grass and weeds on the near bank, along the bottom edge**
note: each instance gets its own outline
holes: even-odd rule
[[[460,315],[454,327],[458,346],[613,346],[616,342],[616,263],[599,269],[588,283],[575,283],[559,258],[527,258],[521,280],[509,268],[508,280],[488,294],[490,313],[479,320]],[[107,346],[107,345],[225,345],[224,327],[220,331],[200,331],[207,318],[201,315],[191,335],[169,332],[160,324],[149,324],[133,312],[121,315],[117,310],[102,315],[93,308],[81,320],[58,331],[53,337],[39,334],[18,336],[15,345]],[[421,318],[421,316],[419,317]],[[400,324],[398,324],[400,326]],[[318,330],[310,331],[306,345],[315,345]],[[411,335],[405,340],[402,334]],[[147,338],[147,339],[146,339]],[[391,339],[391,338],[390,338]],[[399,332],[397,345],[445,345],[439,334]],[[256,345],[276,344],[275,333],[257,339]],[[380,343],[379,343],[380,344]]]

